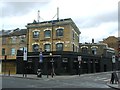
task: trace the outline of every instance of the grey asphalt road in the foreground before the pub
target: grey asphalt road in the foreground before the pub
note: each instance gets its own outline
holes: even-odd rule
[[[3,88],[106,88],[110,73],[73,76],[55,76],[54,78],[26,79],[3,77]]]

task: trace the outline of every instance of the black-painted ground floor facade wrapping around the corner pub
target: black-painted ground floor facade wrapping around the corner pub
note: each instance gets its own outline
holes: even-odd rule
[[[52,53],[52,56],[50,53]],[[82,57],[81,64],[78,62],[78,56]],[[39,52],[29,52],[28,60],[23,61],[23,53],[18,51],[16,73],[36,74],[38,68],[41,68],[43,74],[51,74],[54,68],[56,75],[73,75],[79,72],[84,74],[112,71],[115,68],[117,69],[116,66],[117,64],[112,64],[111,58],[108,57],[82,55],[73,52],[43,52],[42,63],[39,62]]]

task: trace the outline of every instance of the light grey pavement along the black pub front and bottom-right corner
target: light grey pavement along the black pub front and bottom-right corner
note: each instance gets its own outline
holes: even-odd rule
[[[94,74],[82,74],[82,75],[95,75],[95,74],[103,74],[103,73],[111,73],[111,72],[102,72],[102,73],[94,73]],[[25,78],[25,79],[55,79],[55,78],[73,78],[76,77],[78,75],[64,75],[64,76],[54,76],[53,78],[51,77],[51,75],[47,76],[47,75],[42,75],[42,78],[37,77],[37,75],[35,74],[27,74],[27,77],[23,77],[23,74],[11,74],[10,76],[8,74],[0,74],[0,76],[2,77],[15,77],[15,78]],[[119,89],[120,90],[120,83],[119,84],[111,84],[110,82],[106,83],[107,86],[114,88],[114,89]]]

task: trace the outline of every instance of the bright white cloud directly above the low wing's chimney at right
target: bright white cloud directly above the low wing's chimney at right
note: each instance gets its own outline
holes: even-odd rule
[[[95,42],[98,42],[103,38],[107,38],[108,36],[118,36],[117,22],[101,23],[97,27],[81,29],[80,42],[91,42],[92,38],[95,39]]]

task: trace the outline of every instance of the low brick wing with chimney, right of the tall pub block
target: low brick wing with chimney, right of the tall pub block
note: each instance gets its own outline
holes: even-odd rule
[[[109,48],[105,43],[80,43],[79,52],[83,58],[83,70],[87,72],[103,72],[115,69],[116,64],[112,62],[115,50]]]

